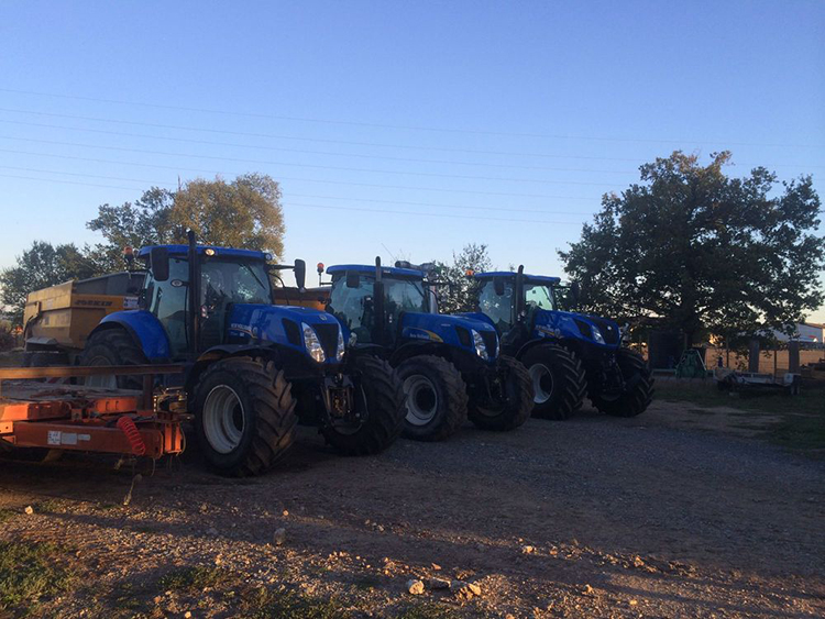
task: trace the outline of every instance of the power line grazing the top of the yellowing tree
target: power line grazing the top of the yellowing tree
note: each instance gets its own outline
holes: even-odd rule
[[[58,155],[55,153],[32,153],[30,151],[16,151],[13,148],[0,148],[0,153],[12,153],[15,155],[32,155],[35,157],[53,157],[57,159],[68,159],[75,162],[88,162],[97,164],[112,164],[112,165],[124,165],[133,167],[148,167],[157,169],[172,169],[176,172],[194,172],[197,174],[209,174],[209,175],[227,175],[227,176],[239,176],[245,174],[243,172],[228,172],[228,170],[216,170],[216,169],[204,169],[193,168],[183,166],[165,166],[160,164],[146,164],[141,162],[118,162],[113,159],[99,159],[95,157],[78,157],[74,155]],[[299,178],[294,176],[280,176],[278,175],[277,180],[294,180],[296,183],[316,183],[322,185],[344,185],[351,187],[372,187],[376,189],[405,189],[411,191],[438,191],[443,194],[465,194],[469,196],[503,196],[508,198],[541,198],[541,199],[561,199],[561,200],[597,200],[600,198],[586,198],[581,196],[552,196],[549,194],[518,194],[510,191],[474,191],[472,189],[443,189],[441,187],[416,187],[411,185],[382,185],[375,183],[355,183],[351,180],[326,180],[319,178]]]

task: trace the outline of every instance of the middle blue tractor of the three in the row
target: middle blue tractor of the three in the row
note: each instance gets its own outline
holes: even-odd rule
[[[437,441],[469,418],[486,430],[512,430],[530,416],[530,377],[498,354],[486,320],[440,316],[420,267],[396,264],[331,266],[327,310],[354,346],[396,368],[407,396],[404,433]]]

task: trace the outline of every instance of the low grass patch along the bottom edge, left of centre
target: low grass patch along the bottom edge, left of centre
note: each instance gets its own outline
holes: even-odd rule
[[[321,599],[279,587],[248,592],[241,603],[244,619],[345,619],[352,614],[336,599]]]

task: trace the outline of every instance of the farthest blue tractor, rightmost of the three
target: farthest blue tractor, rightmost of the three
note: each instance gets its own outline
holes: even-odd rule
[[[518,358],[534,387],[534,417],[566,419],[585,395],[602,412],[635,417],[652,399],[653,378],[638,353],[622,346],[618,325],[559,309],[559,278],[518,272],[473,276],[479,313],[502,351]],[[572,297],[578,297],[573,287]]]

